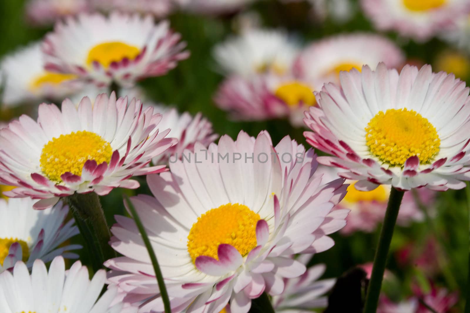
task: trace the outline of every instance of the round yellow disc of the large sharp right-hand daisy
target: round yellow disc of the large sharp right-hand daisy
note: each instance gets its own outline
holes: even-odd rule
[[[421,164],[427,164],[439,152],[440,139],[436,128],[413,110],[380,111],[365,130],[370,152],[392,166],[401,167],[415,155]]]

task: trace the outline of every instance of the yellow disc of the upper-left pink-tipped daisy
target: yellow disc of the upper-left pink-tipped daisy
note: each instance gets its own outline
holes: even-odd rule
[[[135,59],[140,53],[139,48],[129,46],[123,42],[113,41],[105,42],[94,46],[88,53],[86,64],[92,65],[93,61],[98,61],[105,69],[112,62],[122,61],[124,58]]]

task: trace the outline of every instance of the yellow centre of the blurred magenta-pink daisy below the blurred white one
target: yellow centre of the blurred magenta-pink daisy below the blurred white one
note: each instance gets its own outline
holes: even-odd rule
[[[296,81],[281,85],[274,94],[289,107],[298,107],[300,104],[311,107],[316,104],[310,87]]]

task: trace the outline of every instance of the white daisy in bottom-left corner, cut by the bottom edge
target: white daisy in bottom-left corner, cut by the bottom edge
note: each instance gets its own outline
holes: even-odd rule
[[[65,270],[62,257],[56,257],[47,272],[42,260],[34,261],[32,273],[19,261],[13,273],[0,274],[0,312],[77,312],[77,313],[135,313],[136,308],[112,305],[117,288],[110,287],[100,297],[106,280],[103,269],[92,280],[80,261]]]

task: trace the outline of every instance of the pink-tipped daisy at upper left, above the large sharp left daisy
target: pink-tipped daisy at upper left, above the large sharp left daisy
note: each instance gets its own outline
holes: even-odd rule
[[[100,30],[100,31],[96,31]],[[136,80],[164,75],[188,57],[180,34],[167,21],[112,12],[81,14],[58,22],[42,49],[48,70],[72,73],[99,87],[112,81],[132,87]]]

